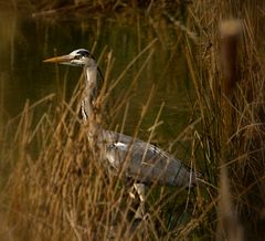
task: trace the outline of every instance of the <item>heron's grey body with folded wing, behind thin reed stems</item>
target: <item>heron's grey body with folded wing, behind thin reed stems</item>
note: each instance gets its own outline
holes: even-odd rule
[[[105,157],[117,170],[141,182],[191,187],[195,172],[158,147],[130,136],[104,130]]]

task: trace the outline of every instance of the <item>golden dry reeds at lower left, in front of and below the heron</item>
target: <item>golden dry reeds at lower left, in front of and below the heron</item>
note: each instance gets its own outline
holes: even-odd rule
[[[112,61],[106,70],[103,92],[95,103],[97,122],[102,122],[99,113],[109,90],[124,74],[106,87],[110,66]],[[11,158],[18,163],[9,177],[8,207],[4,209],[13,235],[22,240],[157,240],[178,237],[182,229],[184,234],[181,235],[188,235],[184,224],[197,213],[197,206],[192,205],[194,192],[151,186],[147,192],[145,220],[139,223],[134,219],[139,205],[138,198],[131,199],[129,195],[134,180],[126,180],[123,172],[114,176],[99,161],[96,144],[94,147],[88,145],[89,124],[84,124],[78,115],[83,82],[81,78],[68,102],[51,95],[33,105],[26,103],[21,115],[12,120],[18,127],[11,139],[12,148],[7,153],[14,153],[15,157]],[[141,118],[153,90],[142,106]],[[40,105],[45,105],[46,112],[35,118]],[[126,106],[126,101],[119,105]]]

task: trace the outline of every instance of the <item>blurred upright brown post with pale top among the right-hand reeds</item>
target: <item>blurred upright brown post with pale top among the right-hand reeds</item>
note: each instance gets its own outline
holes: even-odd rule
[[[233,118],[235,113],[231,103],[235,102],[234,90],[239,81],[237,73],[237,45],[242,32],[239,20],[223,21],[220,25],[221,33],[221,66],[223,83],[221,85],[221,116],[222,116],[222,151],[220,170],[220,202],[219,202],[219,226],[216,240],[241,241],[243,231],[233,208],[233,200],[230,190],[230,178],[227,170],[229,138],[235,132]]]

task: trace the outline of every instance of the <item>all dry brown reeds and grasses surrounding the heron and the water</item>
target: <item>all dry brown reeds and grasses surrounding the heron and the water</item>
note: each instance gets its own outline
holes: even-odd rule
[[[179,42],[195,93],[189,107],[191,120],[183,136],[190,137],[190,165],[200,169],[203,181],[194,191],[150,187],[148,214],[134,231],[137,201],[129,197],[129,187],[123,178],[109,174],[98,161],[96,149],[88,147],[88,126],[78,116],[81,78],[71,99],[65,101],[65,94],[50,95],[34,104],[25,103],[17,118],[1,117],[0,168],[4,175],[0,180],[0,238],[212,240],[218,235],[222,240],[226,235],[227,240],[264,240],[265,4],[255,0],[176,1],[170,6],[167,1],[124,2],[78,4],[76,1],[62,6],[60,1],[50,4],[43,0],[38,6],[28,1],[26,4],[34,9],[35,17],[47,18],[73,9],[73,14],[92,9],[98,14],[106,14],[109,9],[116,14],[128,11],[149,14],[158,36],[150,40],[146,52],[139,52],[146,54],[139,72],[148,62],[157,39],[166,40],[162,21],[173,24],[176,31],[181,32]],[[55,8],[59,11],[47,11]],[[176,14],[174,8],[180,9]],[[221,22],[231,18],[240,19],[242,28],[241,33],[232,36],[232,50],[225,42],[225,36],[231,38],[230,23],[222,35],[220,33]],[[157,31],[159,28],[161,31]],[[233,57],[235,49],[237,57]],[[103,51],[100,57],[105,55]],[[104,115],[109,90],[119,84],[123,75],[110,83],[113,59],[110,54],[106,59],[104,92],[95,103],[98,113]],[[234,63],[236,67],[231,67]],[[131,88],[123,101],[117,101],[116,112],[127,109]],[[151,88],[150,96],[142,103],[141,117],[157,90],[158,86]],[[41,115],[40,107],[45,109]],[[114,119],[116,115],[109,113]],[[160,117],[156,116],[155,127]],[[99,114],[98,122],[109,128],[115,126],[114,123],[106,125]],[[139,118],[136,135],[141,122]]]

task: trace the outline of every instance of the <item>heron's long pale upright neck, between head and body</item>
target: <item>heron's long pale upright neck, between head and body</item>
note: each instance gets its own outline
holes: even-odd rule
[[[82,99],[82,115],[83,119],[87,120],[88,118],[93,118],[95,111],[93,106],[93,101],[96,97],[95,92],[97,87],[97,66],[85,66],[84,67],[85,75],[85,90]]]

